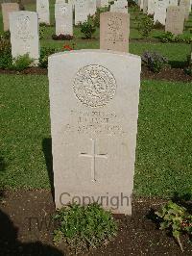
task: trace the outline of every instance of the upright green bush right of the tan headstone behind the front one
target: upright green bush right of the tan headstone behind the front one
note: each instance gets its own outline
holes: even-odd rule
[[[148,38],[154,28],[154,20],[145,15],[144,18],[138,19],[138,31],[143,38]]]

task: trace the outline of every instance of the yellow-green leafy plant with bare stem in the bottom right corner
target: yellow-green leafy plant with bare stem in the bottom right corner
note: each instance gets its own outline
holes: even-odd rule
[[[171,231],[173,237],[180,244],[181,251],[183,251],[180,235],[182,233],[192,235],[192,216],[186,208],[169,201],[159,212],[156,212],[156,216],[160,218],[160,229]]]

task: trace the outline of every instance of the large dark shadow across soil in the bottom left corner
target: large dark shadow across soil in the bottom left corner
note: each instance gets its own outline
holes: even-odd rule
[[[17,240],[18,228],[12,223],[11,218],[0,210],[0,248],[1,255],[9,256],[27,256],[27,255],[41,255],[41,256],[63,256],[57,248],[43,244],[36,243],[20,243]]]

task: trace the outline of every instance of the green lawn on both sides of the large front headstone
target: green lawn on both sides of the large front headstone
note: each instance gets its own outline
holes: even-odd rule
[[[45,155],[50,139],[46,76],[0,76],[0,184],[50,188]],[[140,90],[134,192],[166,197],[192,184],[192,87],[145,81]],[[44,155],[44,153],[46,154]]]

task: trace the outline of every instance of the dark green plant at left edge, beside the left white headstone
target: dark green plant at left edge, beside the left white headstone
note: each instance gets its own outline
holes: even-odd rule
[[[12,66],[12,45],[9,39],[0,38],[0,68],[9,69]]]

